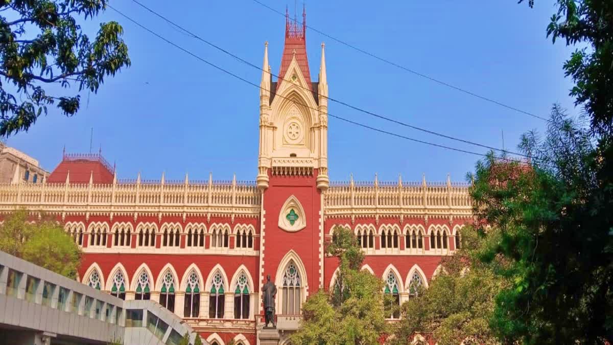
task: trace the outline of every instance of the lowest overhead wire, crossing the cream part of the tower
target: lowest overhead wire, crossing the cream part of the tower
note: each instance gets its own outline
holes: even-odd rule
[[[235,73],[233,73],[233,72],[230,72],[230,71],[229,71],[229,70],[227,70],[227,69],[224,69],[224,68],[222,68],[222,67],[220,67],[220,66],[218,66],[218,65],[216,65],[216,64],[214,64],[214,63],[211,63],[210,61],[205,60],[204,58],[200,57],[199,55],[196,55],[195,53],[192,53],[192,52],[191,52],[191,51],[189,51],[188,49],[183,48],[183,47],[181,47],[180,45],[178,45],[178,44],[176,44],[176,43],[174,43],[174,42],[170,41],[170,40],[169,40],[169,39],[167,39],[166,37],[161,36],[160,34],[156,33],[155,31],[153,31],[153,30],[152,30],[152,29],[150,29],[150,28],[147,28],[147,26],[142,25],[141,23],[139,23],[138,21],[136,21],[136,20],[134,20],[133,18],[129,17],[128,15],[123,14],[123,12],[121,12],[121,11],[120,11],[120,10],[118,10],[118,9],[115,9],[115,7],[113,7],[113,6],[109,5],[109,4],[107,4],[107,6],[109,6],[109,8],[110,8],[110,9],[112,9],[112,10],[114,10],[115,12],[117,12],[118,14],[120,14],[122,17],[126,18],[127,20],[131,21],[131,22],[132,22],[132,23],[134,23],[135,25],[139,26],[140,28],[144,29],[144,30],[145,30],[145,31],[147,31],[148,33],[152,34],[153,36],[156,36],[156,37],[158,37],[159,39],[161,39],[162,41],[166,42],[167,44],[170,44],[170,45],[172,45],[173,47],[175,47],[175,48],[177,48],[177,49],[181,50],[182,52],[187,53],[188,55],[193,56],[193,57],[194,57],[194,58],[196,58],[197,60],[202,61],[202,62],[203,62],[203,63],[205,63],[205,64],[208,64],[208,66],[211,66],[212,68],[215,68],[215,69],[217,69],[218,71],[224,72],[224,73],[228,74],[229,76],[232,76],[232,77],[234,77],[234,78],[236,78],[236,79],[238,79],[238,80],[241,80],[242,82],[248,83],[249,85],[252,85],[252,86],[254,86],[254,87],[256,87],[256,88],[259,88],[259,89],[261,89],[261,90],[265,90],[265,91],[270,92],[270,90],[266,90],[265,88],[262,88],[260,85],[257,85],[256,83],[253,83],[253,82],[250,82],[249,80],[247,80],[247,79],[245,79],[245,78],[243,78],[243,77],[241,77],[241,76],[238,76],[237,74],[235,74]],[[285,96],[276,95],[275,97],[281,97],[281,98],[287,99],[288,101],[291,101],[292,103],[298,104],[299,106],[304,106],[304,107],[309,107],[310,109],[314,109],[313,107],[308,106],[308,104],[296,103],[296,101],[295,101],[294,99],[287,98],[287,97],[285,97]],[[314,110],[318,110],[318,109],[314,109]],[[440,148],[442,148],[442,149],[453,150],[453,151],[456,151],[456,152],[463,152],[463,153],[468,153],[468,154],[471,154],[471,155],[476,155],[476,156],[480,156],[480,157],[487,157],[487,155],[486,155],[486,154],[484,154],[484,153],[479,153],[479,152],[473,152],[473,151],[469,151],[469,150],[458,149],[458,148],[456,148],[456,147],[451,147],[451,146],[447,146],[447,145],[436,144],[436,143],[433,143],[433,142],[428,142],[428,141],[422,141],[422,140],[419,140],[419,139],[414,139],[414,138],[410,138],[410,137],[408,137],[408,136],[404,136],[404,135],[402,135],[402,134],[397,134],[397,133],[393,133],[393,132],[390,132],[390,131],[386,131],[386,130],[381,130],[381,129],[379,129],[379,128],[375,128],[375,127],[373,127],[373,126],[364,125],[363,123],[355,122],[355,121],[349,120],[349,119],[347,119],[347,118],[340,117],[340,116],[338,116],[338,115],[333,115],[333,114],[330,114],[330,113],[328,113],[327,115],[328,115],[328,116],[330,116],[330,117],[333,117],[333,118],[337,118],[338,120],[341,120],[341,121],[344,121],[344,122],[352,123],[353,125],[357,125],[357,126],[360,126],[360,127],[362,127],[362,128],[367,128],[367,129],[369,129],[369,130],[378,131],[379,133],[388,134],[388,135],[391,135],[391,136],[395,136],[395,137],[397,137],[397,138],[403,138],[403,139],[406,139],[406,140],[409,140],[409,141],[419,142],[419,143],[421,143],[421,144],[426,144],[426,145],[431,145],[431,146],[435,146],[435,147],[440,147]],[[505,161],[512,161],[512,162],[516,162],[516,161],[517,161],[517,160],[515,160],[515,159],[512,159],[512,158],[506,158],[506,157],[497,157],[497,159],[499,159],[499,160],[505,160]]]

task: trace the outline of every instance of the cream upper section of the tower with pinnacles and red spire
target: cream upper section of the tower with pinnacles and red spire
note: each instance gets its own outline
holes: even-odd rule
[[[329,185],[327,162],[328,83],[324,44],[319,82],[311,82],[307,60],[306,15],[300,25],[286,15],[285,44],[277,81],[268,64],[268,43],[260,84],[260,146],[257,187],[268,188],[270,174],[316,175]]]

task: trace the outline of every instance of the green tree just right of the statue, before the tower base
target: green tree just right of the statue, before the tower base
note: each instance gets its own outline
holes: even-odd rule
[[[339,273],[333,292],[311,295],[302,306],[299,330],[292,344],[376,344],[389,332],[385,321],[383,281],[360,271],[364,254],[354,234],[334,228],[326,254],[338,258]]]

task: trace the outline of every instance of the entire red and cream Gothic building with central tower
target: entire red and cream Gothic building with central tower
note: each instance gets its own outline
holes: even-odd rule
[[[37,183],[15,172],[0,186],[0,211],[56,217],[83,249],[83,284],[159,301],[210,344],[259,342],[268,274],[278,289],[280,344],[287,344],[308,296],[334,289],[338,259],[324,254],[324,244],[337,226],[356,234],[363,269],[385,282],[381,293],[403,303],[459,246],[471,220],[468,188],[376,175],[330,182],[324,45],[313,81],[305,38],[302,25],[286,20],[275,78],[265,45],[254,180],[118,180],[102,155],[64,153]],[[397,317],[390,313],[390,322]]]

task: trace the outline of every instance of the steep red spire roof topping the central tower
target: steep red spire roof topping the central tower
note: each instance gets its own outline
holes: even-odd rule
[[[302,25],[295,20],[289,20],[289,16],[285,15],[285,45],[283,47],[283,56],[281,58],[281,69],[279,71],[279,82],[283,82],[289,64],[292,62],[294,53],[296,61],[302,72],[302,76],[307,82],[307,87],[311,89],[311,73],[308,69],[307,60],[307,15],[302,12]],[[311,89],[311,91],[313,91]]]

